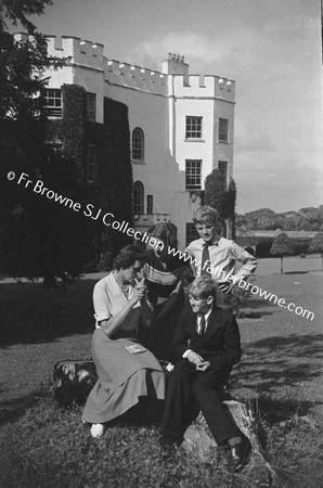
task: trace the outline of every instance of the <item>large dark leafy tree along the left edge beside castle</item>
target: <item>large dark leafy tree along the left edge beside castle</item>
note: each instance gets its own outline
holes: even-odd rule
[[[48,55],[44,36],[27,20],[29,15],[42,14],[44,5],[50,4],[51,0],[0,3],[0,273],[27,278],[42,273],[44,284],[53,284],[57,262],[61,270],[65,268],[59,246],[56,262],[47,257],[53,254],[52,229],[60,222],[64,234],[64,219],[57,219],[51,203],[44,198],[40,202],[23,185],[8,181],[7,175],[12,171],[18,177],[24,171],[37,181],[49,179],[49,169],[52,170],[47,164],[48,124],[40,94],[48,81],[44,70],[62,66],[65,60]],[[16,40],[9,33],[8,23],[20,23],[27,35]],[[64,167],[63,181],[70,181],[70,164],[63,159],[56,163]]]

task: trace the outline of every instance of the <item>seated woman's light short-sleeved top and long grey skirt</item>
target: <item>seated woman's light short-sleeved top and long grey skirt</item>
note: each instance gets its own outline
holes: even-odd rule
[[[155,356],[144,348],[138,354],[129,350],[129,346],[139,344],[140,303],[133,306],[121,329],[111,337],[99,325],[100,321],[108,320],[122,310],[132,295],[130,286],[128,297],[125,296],[113,273],[94,287],[96,329],[92,337],[92,358],[99,380],[87,400],[83,422],[108,422],[125,413],[143,396],[165,399],[165,374]]]

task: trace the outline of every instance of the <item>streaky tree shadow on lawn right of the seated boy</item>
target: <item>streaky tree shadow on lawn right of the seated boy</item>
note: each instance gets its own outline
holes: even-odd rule
[[[322,359],[323,334],[269,337],[244,346],[234,378],[241,387],[271,394],[320,377]]]

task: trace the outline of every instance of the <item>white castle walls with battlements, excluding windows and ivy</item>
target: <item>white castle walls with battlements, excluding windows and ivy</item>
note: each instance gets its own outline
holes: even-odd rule
[[[21,38],[22,39],[22,38]],[[22,39],[23,40],[23,39]],[[125,103],[130,132],[140,127],[145,137],[144,164],[133,164],[133,180],[154,195],[155,214],[169,214],[178,227],[179,245],[185,245],[185,223],[192,221],[199,197],[185,191],[185,159],[202,159],[202,182],[228,162],[233,172],[235,84],[219,76],[189,75],[184,57],[168,53],[163,73],[109,60],[104,47],[76,37],[48,37],[49,54],[68,57],[62,69],[49,70],[49,87],[77,84],[96,94],[96,121],[103,123],[104,97]],[[203,141],[185,141],[185,117],[203,117]],[[229,119],[229,143],[218,142],[219,117]]]

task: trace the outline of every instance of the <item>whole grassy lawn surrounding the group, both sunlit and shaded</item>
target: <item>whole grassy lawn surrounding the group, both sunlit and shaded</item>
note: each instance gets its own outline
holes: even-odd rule
[[[274,486],[323,486],[322,294],[318,257],[263,259],[256,284],[315,313],[298,317],[254,296],[240,319],[244,356],[232,393],[251,402],[266,437]],[[277,266],[275,266],[277,265]],[[307,269],[306,269],[307,265]],[[311,270],[311,272],[308,272]],[[260,486],[229,477],[180,451],[160,459],[158,423],[124,419],[93,440],[81,425],[81,407],[62,409],[53,398],[53,364],[89,358],[93,330],[91,293],[100,275],[65,290],[40,283],[0,285],[1,487],[229,487]]]

